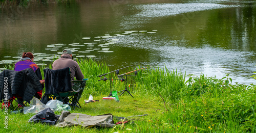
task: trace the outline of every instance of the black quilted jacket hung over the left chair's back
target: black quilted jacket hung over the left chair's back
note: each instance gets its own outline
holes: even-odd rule
[[[8,88],[7,97],[4,93],[5,87]],[[42,90],[42,86],[32,68],[22,71],[4,70],[0,73],[0,101],[5,98],[9,99],[12,96],[18,96],[30,102],[35,93],[40,90]]]

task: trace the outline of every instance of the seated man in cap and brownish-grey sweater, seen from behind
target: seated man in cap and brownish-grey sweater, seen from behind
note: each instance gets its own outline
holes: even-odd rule
[[[82,71],[81,71],[78,63],[73,60],[72,51],[70,49],[64,49],[62,51],[61,57],[59,59],[57,59],[56,61],[54,61],[52,64],[52,70],[62,69],[62,68],[66,68],[66,67],[70,68],[72,81],[75,78],[78,81],[82,81],[82,79],[83,79]],[[73,87],[73,85],[74,84],[72,83],[72,87]],[[78,98],[78,101],[82,95],[82,92],[83,92],[83,89],[81,89],[81,91],[79,92],[79,95],[78,95],[78,93],[76,93],[76,97]],[[73,100],[75,100],[75,99],[73,99]],[[75,102],[72,101],[72,103],[75,103]],[[71,104],[71,105],[73,105],[73,104]]]

